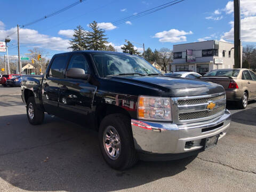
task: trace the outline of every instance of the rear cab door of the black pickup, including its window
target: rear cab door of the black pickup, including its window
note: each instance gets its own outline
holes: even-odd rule
[[[42,100],[45,111],[52,115],[59,114],[58,99],[60,81],[64,78],[68,62],[67,54],[56,55],[50,63],[50,68],[43,79]]]

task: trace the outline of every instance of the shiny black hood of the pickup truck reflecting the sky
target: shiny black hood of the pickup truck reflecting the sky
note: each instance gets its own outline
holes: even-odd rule
[[[158,94],[167,97],[187,97],[225,92],[221,85],[215,83],[179,77],[115,76],[111,77],[111,80],[148,87],[148,89],[157,89]]]

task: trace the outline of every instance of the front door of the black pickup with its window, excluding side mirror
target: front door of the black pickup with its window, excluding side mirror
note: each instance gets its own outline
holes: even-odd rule
[[[74,53],[71,55],[67,70],[70,68],[84,69],[90,74],[90,58],[86,54]],[[65,77],[60,82],[59,109],[63,118],[79,124],[84,124],[92,112],[92,102],[97,86],[90,84],[86,79]]]

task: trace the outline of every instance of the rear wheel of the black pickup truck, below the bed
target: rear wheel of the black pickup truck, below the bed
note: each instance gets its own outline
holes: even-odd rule
[[[33,112],[30,109],[33,109]],[[33,113],[33,116],[30,115],[32,113]],[[28,101],[27,101],[27,117],[28,117],[29,123],[32,124],[32,125],[39,125],[39,124],[42,124],[43,121],[44,121],[44,111],[39,110],[36,107],[34,97],[29,97],[28,98]]]

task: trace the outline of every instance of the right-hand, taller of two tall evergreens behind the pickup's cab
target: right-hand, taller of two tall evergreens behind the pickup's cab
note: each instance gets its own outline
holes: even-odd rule
[[[98,23],[93,21],[89,24],[91,31],[86,32],[85,42],[90,50],[103,51],[107,49],[105,30],[100,29]]]

